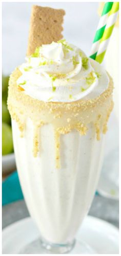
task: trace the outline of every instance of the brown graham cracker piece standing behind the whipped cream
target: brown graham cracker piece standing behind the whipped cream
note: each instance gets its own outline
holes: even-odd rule
[[[34,5],[32,7],[27,56],[43,44],[57,42],[63,38],[62,24],[65,11]]]

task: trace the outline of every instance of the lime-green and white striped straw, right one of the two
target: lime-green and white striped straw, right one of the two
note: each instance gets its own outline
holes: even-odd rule
[[[98,38],[99,37],[100,38],[98,40],[98,44],[96,43],[96,47],[92,46],[92,49],[95,51],[92,51],[91,56],[90,56],[90,58],[96,60],[99,63],[102,63],[102,61],[104,59],[104,56],[105,56],[105,53],[107,50],[107,46],[108,46],[108,43],[110,40],[110,36],[112,34],[112,31],[113,31],[113,28],[114,28],[114,25],[115,25],[115,22],[117,19],[117,15],[118,15],[118,10],[119,10],[119,2],[114,2],[114,3],[108,2],[106,4],[107,4],[108,9],[110,9],[110,11],[108,11],[106,25],[105,25],[103,32],[99,33]],[[112,5],[110,5],[110,4],[112,4]],[[102,15],[103,15],[103,13],[105,13],[105,10],[106,10],[106,7],[104,6]]]

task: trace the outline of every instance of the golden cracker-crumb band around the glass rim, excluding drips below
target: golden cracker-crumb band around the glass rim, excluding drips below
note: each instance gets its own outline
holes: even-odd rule
[[[9,97],[8,98],[9,100],[13,98],[16,101],[21,102],[21,104],[23,105],[27,104],[30,106],[34,106],[39,111],[42,111],[42,109],[46,108],[48,110],[52,109],[53,112],[54,111],[56,112],[59,110],[60,111],[64,110],[65,112],[68,112],[69,110],[76,112],[78,111],[78,109],[92,108],[95,105],[102,104],[103,102],[105,102],[110,96],[112,96],[112,92],[113,92],[113,80],[111,76],[108,74],[109,80],[110,80],[108,88],[104,91],[104,93],[100,94],[98,97],[94,99],[89,99],[89,100],[80,99],[73,102],[51,102],[51,101],[45,102],[45,101],[34,99],[29,95],[26,95],[23,90],[19,89],[19,87],[16,84],[16,81],[21,75],[22,73],[19,70],[19,67],[12,72],[9,80]]]

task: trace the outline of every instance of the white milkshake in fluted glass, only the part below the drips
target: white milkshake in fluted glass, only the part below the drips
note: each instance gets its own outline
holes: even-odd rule
[[[23,138],[15,121],[12,128],[19,179],[33,220],[47,241],[71,242],[92,203],[102,167],[104,136],[97,141],[92,125],[85,136],[77,131],[62,135],[58,170],[51,124],[39,130],[41,152],[36,158],[31,150],[31,120],[26,122]]]

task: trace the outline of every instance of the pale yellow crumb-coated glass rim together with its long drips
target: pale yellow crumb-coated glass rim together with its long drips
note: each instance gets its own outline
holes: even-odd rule
[[[23,92],[16,84],[21,76],[21,71],[16,68],[10,76],[8,90],[8,109],[12,120],[15,120],[20,136],[24,137],[28,118],[33,123],[33,156],[40,153],[38,137],[43,125],[51,124],[54,128],[55,138],[55,166],[60,164],[60,136],[71,131],[77,131],[80,136],[88,133],[89,125],[95,131],[96,139],[100,139],[100,133],[107,132],[107,122],[113,108],[112,92],[113,81],[110,78],[109,86],[103,94],[93,100],[79,100],[70,103],[44,102],[33,99]]]

